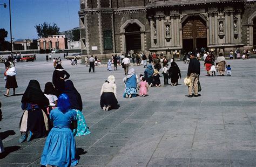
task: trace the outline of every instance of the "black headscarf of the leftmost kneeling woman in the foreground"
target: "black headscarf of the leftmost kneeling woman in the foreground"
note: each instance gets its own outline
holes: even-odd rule
[[[22,96],[22,103],[32,103],[38,106],[48,106],[49,100],[46,98],[40,88],[40,84],[37,80],[30,80],[26,91]]]

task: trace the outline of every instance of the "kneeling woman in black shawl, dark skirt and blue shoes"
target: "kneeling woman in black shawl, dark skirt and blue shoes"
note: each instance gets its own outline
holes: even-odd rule
[[[37,80],[30,80],[22,96],[22,109],[25,110],[20,121],[21,138],[19,143],[30,141],[31,137],[38,138],[47,135],[49,130],[48,117],[44,110],[49,100],[42,92]]]

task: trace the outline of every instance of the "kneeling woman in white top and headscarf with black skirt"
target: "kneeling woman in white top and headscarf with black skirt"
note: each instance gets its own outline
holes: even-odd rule
[[[114,75],[109,75],[100,91],[100,107],[103,110],[117,109],[117,85],[114,83]]]

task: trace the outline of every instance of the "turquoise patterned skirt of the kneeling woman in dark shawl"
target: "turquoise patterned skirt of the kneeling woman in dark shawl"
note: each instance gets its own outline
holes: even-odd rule
[[[73,129],[73,135],[74,136],[82,136],[82,135],[88,135],[90,134],[90,130],[87,127],[87,124],[85,122],[85,118],[82,112],[80,110],[75,109],[77,113],[77,128]]]

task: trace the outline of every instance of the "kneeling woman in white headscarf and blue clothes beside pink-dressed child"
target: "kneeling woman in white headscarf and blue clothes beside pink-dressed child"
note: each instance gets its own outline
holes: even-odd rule
[[[131,68],[128,74],[123,79],[125,83],[124,98],[132,98],[137,96],[137,84],[139,83],[138,75],[135,73],[135,69]]]

